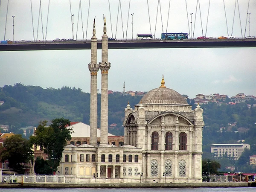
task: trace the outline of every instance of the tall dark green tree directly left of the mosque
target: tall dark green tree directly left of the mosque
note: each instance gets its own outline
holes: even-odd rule
[[[48,154],[49,165],[52,172],[60,165],[62,152],[68,140],[71,140],[72,128],[68,119],[53,119],[52,124],[47,126],[47,121],[40,122],[35,131],[35,136],[30,137],[32,144],[40,146],[41,151]]]

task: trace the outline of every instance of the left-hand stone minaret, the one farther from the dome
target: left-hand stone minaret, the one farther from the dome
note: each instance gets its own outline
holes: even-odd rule
[[[97,38],[95,29],[95,18],[93,21],[93,37],[91,38],[91,62],[88,64],[91,75],[90,84],[90,145],[97,144],[97,73],[99,64],[97,64]]]

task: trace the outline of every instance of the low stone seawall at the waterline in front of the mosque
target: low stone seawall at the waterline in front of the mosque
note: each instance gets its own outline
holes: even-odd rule
[[[227,183],[0,183],[0,188],[198,188],[248,187],[247,182]]]

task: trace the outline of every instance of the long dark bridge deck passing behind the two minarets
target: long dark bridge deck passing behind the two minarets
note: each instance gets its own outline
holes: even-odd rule
[[[32,51],[32,50],[70,50],[90,49],[90,41],[76,42],[28,42],[1,44],[0,51]],[[236,40],[120,40],[109,41],[109,49],[157,49],[157,48],[211,48],[211,47],[256,47],[256,39]],[[98,49],[102,48],[101,41]]]

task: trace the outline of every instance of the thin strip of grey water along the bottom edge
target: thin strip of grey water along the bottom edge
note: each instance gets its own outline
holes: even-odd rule
[[[0,192],[256,192],[255,187],[235,188],[90,188],[90,189],[3,189]]]

